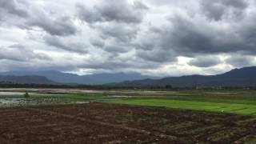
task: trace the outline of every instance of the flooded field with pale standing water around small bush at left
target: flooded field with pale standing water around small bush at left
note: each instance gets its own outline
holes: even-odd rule
[[[25,96],[26,93],[28,93],[27,97]],[[73,93],[75,93],[75,90],[70,91],[58,89],[1,89],[0,107],[42,106],[89,102],[86,99],[75,98],[75,95],[71,95]]]

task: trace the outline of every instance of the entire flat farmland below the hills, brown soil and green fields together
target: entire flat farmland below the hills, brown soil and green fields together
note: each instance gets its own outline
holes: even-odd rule
[[[254,143],[255,95],[254,90],[6,89],[0,92],[0,141]]]

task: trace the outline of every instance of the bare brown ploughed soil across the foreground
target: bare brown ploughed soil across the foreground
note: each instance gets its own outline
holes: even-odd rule
[[[256,142],[256,118],[90,103],[0,109],[0,143]]]

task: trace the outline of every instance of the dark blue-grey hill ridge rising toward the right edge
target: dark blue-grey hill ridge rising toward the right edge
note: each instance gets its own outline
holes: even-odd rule
[[[189,75],[112,83],[110,86],[256,86],[256,66],[234,69],[218,75]]]

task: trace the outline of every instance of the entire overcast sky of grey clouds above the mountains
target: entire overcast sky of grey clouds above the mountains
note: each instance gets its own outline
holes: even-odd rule
[[[0,0],[0,68],[219,74],[256,65],[254,0]]]

